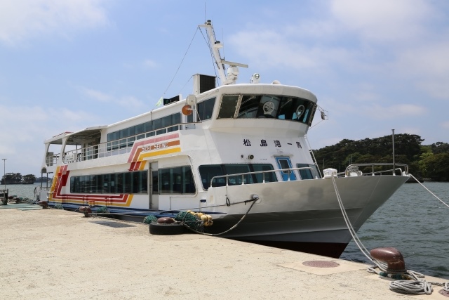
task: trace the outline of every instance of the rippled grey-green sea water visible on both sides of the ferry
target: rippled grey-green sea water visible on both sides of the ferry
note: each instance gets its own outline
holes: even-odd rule
[[[449,183],[423,184],[449,205]],[[34,199],[34,188],[40,185],[6,185],[6,188],[9,195]],[[357,235],[368,251],[395,247],[403,254],[408,270],[449,279],[449,207],[419,183],[401,186],[370,216]],[[340,258],[370,263],[354,242],[349,243]]]

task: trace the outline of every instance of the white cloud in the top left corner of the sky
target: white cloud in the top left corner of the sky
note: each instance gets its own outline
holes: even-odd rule
[[[0,41],[16,44],[39,34],[62,34],[107,24],[104,0],[2,0]]]

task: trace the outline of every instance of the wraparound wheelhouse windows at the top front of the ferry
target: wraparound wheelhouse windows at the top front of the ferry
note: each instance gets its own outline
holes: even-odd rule
[[[274,118],[310,125],[316,103],[302,98],[276,95],[224,95],[218,119]]]

